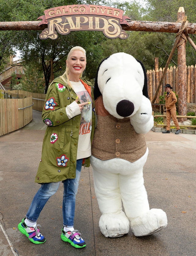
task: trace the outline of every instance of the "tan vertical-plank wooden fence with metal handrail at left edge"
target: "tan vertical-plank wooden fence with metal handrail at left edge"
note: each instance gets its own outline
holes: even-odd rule
[[[32,97],[0,99],[0,136],[16,131],[32,120]]]

